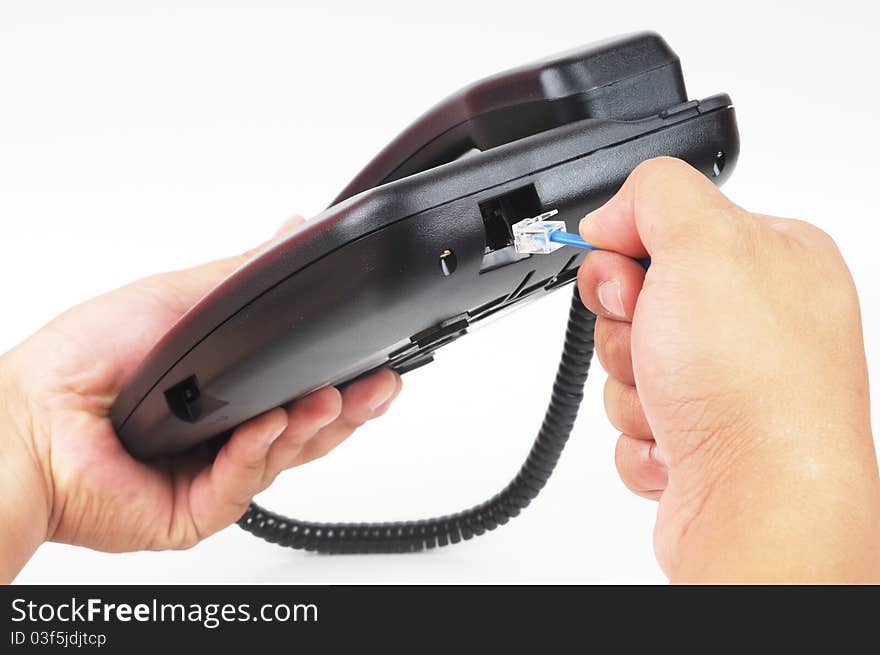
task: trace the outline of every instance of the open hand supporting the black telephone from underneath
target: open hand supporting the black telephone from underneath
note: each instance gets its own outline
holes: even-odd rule
[[[291,219],[281,232],[302,223]],[[152,346],[254,251],[156,275],[75,307],[0,356],[0,581],[45,541],[181,549],[236,521],[282,470],[383,414],[400,376],[327,387],[238,427],[213,462],[139,462],[108,414]]]

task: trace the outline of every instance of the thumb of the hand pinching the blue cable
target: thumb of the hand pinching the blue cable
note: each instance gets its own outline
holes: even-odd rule
[[[587,214],[580,233],[603,250],[656,260],[670,250],[729,243],[736,209],[698,170],[658,157],[639,164],[607,203]]]

